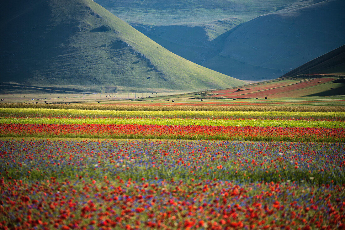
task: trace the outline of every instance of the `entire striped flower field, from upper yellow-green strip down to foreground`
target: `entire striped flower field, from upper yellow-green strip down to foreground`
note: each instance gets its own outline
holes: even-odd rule
[[[0,114],[0,229],[345,229],[344,112]]]

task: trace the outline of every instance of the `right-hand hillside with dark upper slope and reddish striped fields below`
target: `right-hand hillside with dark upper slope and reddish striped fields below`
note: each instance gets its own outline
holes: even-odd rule
[[[345,45],[338,47],[280,78],[243,87],[203,92],[206,98],[290,98],[345,95]]]

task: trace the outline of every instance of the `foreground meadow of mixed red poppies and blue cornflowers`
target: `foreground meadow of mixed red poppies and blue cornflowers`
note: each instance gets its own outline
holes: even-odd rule
[[[1,227],[344,228],[343,144],[1,141]]]

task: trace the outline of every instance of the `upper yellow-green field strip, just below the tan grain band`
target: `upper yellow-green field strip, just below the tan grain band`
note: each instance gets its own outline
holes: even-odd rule
[[[82,118],[255,118],[255,119],[305,119],[345,120],[345,112],[279,112],[279,111],[128,111],[81,110],[43,108],[0,108],[2,117],[82,117]]]

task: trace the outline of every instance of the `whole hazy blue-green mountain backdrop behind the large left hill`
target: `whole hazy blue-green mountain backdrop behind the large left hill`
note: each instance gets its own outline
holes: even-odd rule
[[[277,78],[345,43],[343,0],[96,1],[171,52],[243,80]]]

